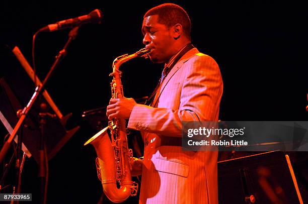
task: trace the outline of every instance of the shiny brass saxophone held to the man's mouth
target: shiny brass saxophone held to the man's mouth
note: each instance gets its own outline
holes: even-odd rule
[[[121,71],[119,67],[128,60],[136,57],[148,57],[149,49],[141,49],[134,54],[117,57],[112,64],[111,97],[123,98],[123,86],[121,83]],[[107,130],[111,132],[111,141]],[[95,134],[84,145],[92,144],[97,153],[96,167],[99,180],[102,181],[106,196],[113,202],[119,203],[129,196],[135,196],[138,191],[138,183],[131,180],[132,150],[128,149],[126,138],[125,120],[114,118],[108,122],[108,126]],[[120,186],[117,187],[117,184]]]

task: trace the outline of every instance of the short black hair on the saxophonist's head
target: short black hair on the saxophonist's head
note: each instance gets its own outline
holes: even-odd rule
[[[176,4],[162,4],[148,10],[143,18],[158,15],[158,22],[168,28],[181,24],[185,36],[190,40],[191,22],[186,11]]]

